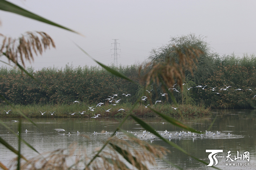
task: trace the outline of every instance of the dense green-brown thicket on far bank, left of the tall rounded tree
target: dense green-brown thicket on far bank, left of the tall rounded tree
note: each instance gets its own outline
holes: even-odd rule
[[[137,66],[115,68],[130,78],[137,77]],[[137,85],[108,73],[100,67],[66,65],[64,69],[27,69],[36,80],[17,69],[0,68],[0,94],[13,104],[69,104],[73,101],[98,103],[119,94],[126,102],[136,100]],[[130,93],[126,98],[123,93]],[[5,103],[1,100],[1,103]]]

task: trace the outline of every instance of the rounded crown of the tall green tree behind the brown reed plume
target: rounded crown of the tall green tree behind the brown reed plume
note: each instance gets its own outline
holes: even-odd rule
[[[216,68],[215,59],[218,57],[218,54],[211,51],[211,47],[204,41],[204,38],[201,36],[197,37],[195,34],[171,37],[168,44],[158,49],[153,49],[149,59],[153,62],[163,62],[167,58],[170,58],[178,63],[179,55],[173,53],[175,48],[180,48],[182,53],[187,53],[186,49],[188,48],[202,51],[198,62],[196,62],[197,69],[194,70],[194,76],[192,76],[190,71],[186,71],[185,73],[185,77],[188,80],[193,80],[196,84],[201,84],[213,74]]]

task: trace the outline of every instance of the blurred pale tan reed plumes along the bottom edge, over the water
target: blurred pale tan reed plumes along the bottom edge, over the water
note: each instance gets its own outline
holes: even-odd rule
[[[109,138],[112,145],[123,149],[130,160],[130,165],[139,169],[148,169],[147,164],[156,165],[155,157],[162,158],[167,149],[161,146],[152,146],[138,138],[128,136],[128,138],[119,139],[117,137]],[[139,148],[137,146],[140,146]],[[124,159],[114,147],[108,145],[108,148],[92,162],[90,167],[85,168],[90,162],[91,156],[87,155],[86,149],[77,147],[77,144],[71,144],[69,149],[57,149],[53,152],[46,152],[29,159],[27,162],[21,161],[21,170],[78,170],[85,168],[86,170],[128,170],[127,159]],[[146,164],[147,163],[147,164]],[[72,166],[71,166],[72,164]],[[11,163],[9,169],[16,168],[17,159]]]

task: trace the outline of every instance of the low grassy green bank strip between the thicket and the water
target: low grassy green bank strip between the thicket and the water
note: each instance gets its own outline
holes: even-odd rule
[[[172,108],[175,106],[170,104],[157,104],[150,107],[172,117],[180,117],[181,115],[183,115],[183,117],[192,117],[211,114],[209,108],[191,105],[179,105],[176,110]],[[98,106],[96,108],[94,106],[92,107],[95,108],[94,111],[89,110],[87,105],[79,103],[74,103],[72,105],[16,105],[14,108],[10,106],[0,106],[0,108],[0,117],[21,117],[19,111],[27,117],[93,117],[98,114],[100,114],[100,117],[123,117],[132,108],[132,105],[128,103],[117,104],[116,106],[108,104],[106,106]],[[119,110],[121,108],[124,110]],[[5,110],[7,112],[8,110],[11,111],[7,114]],[[137,105],[132,112],[138,117],[157,116],[156,113],[143,105]]]

